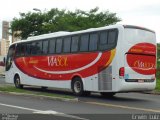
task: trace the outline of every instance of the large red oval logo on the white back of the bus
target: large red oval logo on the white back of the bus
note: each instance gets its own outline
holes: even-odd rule
[[[139,43],[131,47],[126,54],[127,63],[135,72],[143,75],[155,74],[156,46]]]

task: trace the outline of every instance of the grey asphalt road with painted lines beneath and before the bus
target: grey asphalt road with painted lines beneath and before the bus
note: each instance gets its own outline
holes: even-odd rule
[[[0,84],[5,84],[4,78],[0,78]],[[27,89],[40,90],[39,88]],[[46,92],[73,96],[71,92],[57,90],[47,90]],[[92,94],[89,97],[78,97],[78,99],[79,102],[69,102],[0,93],[0,113],[59,114],[65,115],[65,117],[73,115],[69,118],[77,117],[79,114],[93,116],[98,114],[160,114],[159,95],[119,93],[113,98],[102,98],[99,94]]]

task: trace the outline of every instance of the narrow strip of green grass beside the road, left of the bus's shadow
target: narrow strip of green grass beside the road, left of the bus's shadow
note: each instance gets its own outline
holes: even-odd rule
[[[65,99],[74,99],[75,97],[73,96],[69,96],[69,95],[59,95],[59,94],[55,94],[55,93],[47,93],[47,92],[37,92],[37,91],[30,91],[27,89],[18,89],[15,88],[14,86],[0,86],[0,91],[2,92],[15,92],[15,93],[23,93],[23,94],[32,94],[32,95],[37,95],[37,96],[47,96],[47,97],[54,97],[54,98],[65,98]]]

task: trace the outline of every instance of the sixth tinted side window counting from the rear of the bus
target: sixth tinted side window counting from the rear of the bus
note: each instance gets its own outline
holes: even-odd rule
[[[63,42],[63,52],[67,53],[70,52],[71,49],[71,37],[64,38]]]

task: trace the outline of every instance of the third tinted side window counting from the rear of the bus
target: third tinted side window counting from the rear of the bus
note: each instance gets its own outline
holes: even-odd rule
[[[98,44],[98,34],[97,33],[90,34],[89,51],[97,50],[97,44]]]

